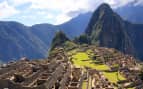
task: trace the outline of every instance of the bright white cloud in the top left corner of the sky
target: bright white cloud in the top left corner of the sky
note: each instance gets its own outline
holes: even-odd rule
[[[19,11],[14,7],[8,5],[7,1],[3,1],[0,3],[0,18],[8,18],[12,15],[18,14]]]

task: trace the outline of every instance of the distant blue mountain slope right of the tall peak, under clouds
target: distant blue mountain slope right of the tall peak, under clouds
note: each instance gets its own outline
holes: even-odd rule
[[[123,7],[115,9],[115,11],[127,21],[132,23],[143,24],[143,5],[135,5],[135,3],[129,3]]]

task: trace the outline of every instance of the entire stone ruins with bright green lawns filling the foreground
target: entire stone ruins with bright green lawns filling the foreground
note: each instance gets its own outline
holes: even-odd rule
[[[0,89],[142,89],[141,72],[141,63],[115,49],[58,47],[47,59],[2,65]]]

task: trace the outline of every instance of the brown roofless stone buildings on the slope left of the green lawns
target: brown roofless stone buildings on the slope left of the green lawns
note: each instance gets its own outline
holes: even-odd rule
[[[71,68],[62,49],[49,58],[32,61],[22,58],[1,67],[0,89],[81,89],[83,74]]]

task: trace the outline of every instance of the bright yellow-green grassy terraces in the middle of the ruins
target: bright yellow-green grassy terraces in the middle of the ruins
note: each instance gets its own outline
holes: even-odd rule
[[[75,66],[89,67],[103,71],[104,76],[112,83],[117,83],[119,80],[125,80],[125,78],[118,72],[105,72],[104,70],[109,70],[110,68],[105,64],[99,64],[96,60],[92,60],[90,56],[93,54],[91,54],[90,50],[87,52],[78,52],[76,50],[72,50],[69,52],[69,54],[72,54],[72,62]],[[85,89],[85,86],[86,85],[83,84],[83,89]]]

